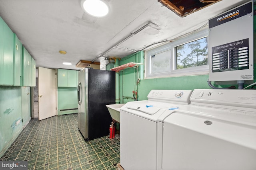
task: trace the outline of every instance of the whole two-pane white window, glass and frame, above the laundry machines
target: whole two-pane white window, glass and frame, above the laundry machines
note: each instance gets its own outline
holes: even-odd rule
[[[145,78],[208,74],[208,29],[145,51]]]

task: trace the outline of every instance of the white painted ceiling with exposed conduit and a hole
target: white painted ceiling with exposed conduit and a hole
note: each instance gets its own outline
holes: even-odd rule
[[[86,14],[80,0],[0,0],[0,16],[17,34],[36,66],[80,69],[76,68],[80,60],[104,60],[98,56],[149,21],[156,25],[147,26],[105,55],[122,58],[132,53],[130,49],[139,51],[158,41],[184,35],[248,0],[222,0],[184,18],[157,0],[107,1],[110,14],[103,18]],[[67,54],[60,54],[60,50]]]

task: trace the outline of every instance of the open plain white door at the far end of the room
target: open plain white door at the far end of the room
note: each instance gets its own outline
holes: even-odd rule
[[[56,70],[38,67],[38,119],[56,115]]]

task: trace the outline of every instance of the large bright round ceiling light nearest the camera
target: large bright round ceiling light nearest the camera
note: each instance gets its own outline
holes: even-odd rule
[[[82,9],[94,17],[106,16],[109,12],[108,4],[104,0],[81,0]]]

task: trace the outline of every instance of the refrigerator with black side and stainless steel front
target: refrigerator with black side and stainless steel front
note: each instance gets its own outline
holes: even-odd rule
[[[115,104],[115,72],[83,68],[78,72],[78,130],[85,141],[109,135]]]

